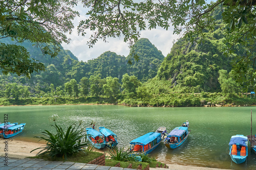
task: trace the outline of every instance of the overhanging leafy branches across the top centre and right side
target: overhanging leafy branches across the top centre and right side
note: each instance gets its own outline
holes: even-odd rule
[[[89,0],[82,1],[88,8],[89,18],[81,20],[78,33],[84,36],[87,29],[93,31],[88,45],[98,39],[124,36],[132,46],[140,37],[140,31],[161,27],[174,27],[175,34],[181,34],[191,41],[199,42],[205,30],[214,30],[215,11],[222,14],[223,28],[226,28],[226,54],[237,49],[237,43],[244,47],[244,54],[234,58],[237,79],[246,81],[247,68],[254,67],[256,11],[255,0]],[[251,57],[253,56],[253,57]],[[253,79],[253,77],[252,77]],[[251,80],[252,80],[251,79]]]

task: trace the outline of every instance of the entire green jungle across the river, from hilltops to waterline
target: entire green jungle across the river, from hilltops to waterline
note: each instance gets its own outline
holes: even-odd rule
[[[146,38],[139,39],[129,56],[111,51],[87,62],[60,47],[55,58],[41,54],[29,41],[22,44],[31,58],[45,64],[45,71],[0,76],[0,105],[114,103],[132,106],[202,106],[211,104],[251,105],[253,98],[242,92],[254,90],[237,82],[234,58],[243,47],[223,54],[225,36],[221,15],[214,30],[204,30],[202,42],[180,38],[164,57]],[[196,35],[194,35],[196,36]],[[12,44],[9,38],[0,42]],[[254,52],[252,52],[254,54]],[[139,60],[134,59],[139,56]],[[132,61],[132,65],[129,64]],[[251,75],[252,68],[247,69]],[[255,74],[248,76],[248,80]],[[246,84],[247,83],[247,84]],[[243,86],[244,85],[244,86]],[[243,88],[245,87],[245,88]],[[244,96],[243,96],[244,97]]]

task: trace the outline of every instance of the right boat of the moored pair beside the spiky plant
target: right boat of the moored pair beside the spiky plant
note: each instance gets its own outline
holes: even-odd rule
[[[99,127],[99,132],[104,136],[106,146],[116,147],[118,144],[117,135],[105,127]]]

